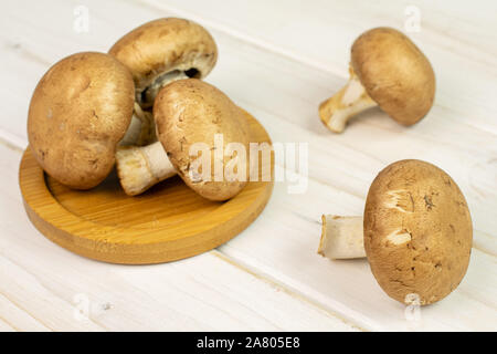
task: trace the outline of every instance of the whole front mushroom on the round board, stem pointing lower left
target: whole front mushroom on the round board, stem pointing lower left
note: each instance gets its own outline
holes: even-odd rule
[[[172,82],[156,97],[154,117],[159,142],[116,154],[128,195],[176,173],[210,200],[230,199],[246,185],[248,126],[243,111],[220,90],[195,79]]]

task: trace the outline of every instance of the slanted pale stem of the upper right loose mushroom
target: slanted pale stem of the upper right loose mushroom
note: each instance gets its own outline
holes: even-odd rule
[[[319,117],[334,133],[343,132],[352,116],[378,105],[368,95],[353,70],[350,67],[349,71],[350,79],[347,85],[319,105]]]

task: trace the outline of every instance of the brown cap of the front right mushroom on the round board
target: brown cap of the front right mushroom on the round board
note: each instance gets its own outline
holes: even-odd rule
[[[191,189],[207,199],[230,199],[246,185],[250,171],[248,157],[246,157],[247,175],[242,178],[243,180],[226,178],[215,180],[214,175],[215,134],[222,134],[223,152],[230,143],[240,143],[246,153],[250,150],[250,128],[244,114],[220,90],[195,79],[172,82],[156,97],[154,117],[157,136],[178,175]],[[193,175],[192,163],[198,157],[190,156],[190,147],[197,143],[207,144],[211,152],[210,180],[202,180],[198,174]],[[223,154],[223,170],[230,159],[230,156]]]

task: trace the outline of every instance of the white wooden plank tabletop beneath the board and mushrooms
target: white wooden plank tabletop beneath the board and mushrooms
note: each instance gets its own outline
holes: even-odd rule
[[[78,22],[86,10],[88,31]],[[497,330],[496,1],[17,0],[0,13],[0,330]],[[215,38],[209,82],[274,142],[309,144],[308,189],[289,195],[277,183],[248,229],[183,261],[124,267],[75,256],[40,235],[22,206],[17,175],[32,91],[63,56],[105,52],[138,24],[171,15]],[[420,31],[408,34],[437,77],[429,116],[404,128],[372,110],[345,134],[329,133],[317,106],[345,84],[355,38],[377,25],[415,30],[416,18]],[[403,158],[450,173],[475,228],[463,283],[417,317],[382,292],[366,260],[316,254],[320,215],[361,214],[376,174]]]

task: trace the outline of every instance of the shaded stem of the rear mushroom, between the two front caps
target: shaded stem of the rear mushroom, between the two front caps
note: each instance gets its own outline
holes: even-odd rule
[[[133,112],[131,123],[126,131],[125,136],[120,139],[120,146],[127,145],[147,145],[157,140],[156,125],[154,116],[150,112],[142,111],[135,102],[135,111]]]

